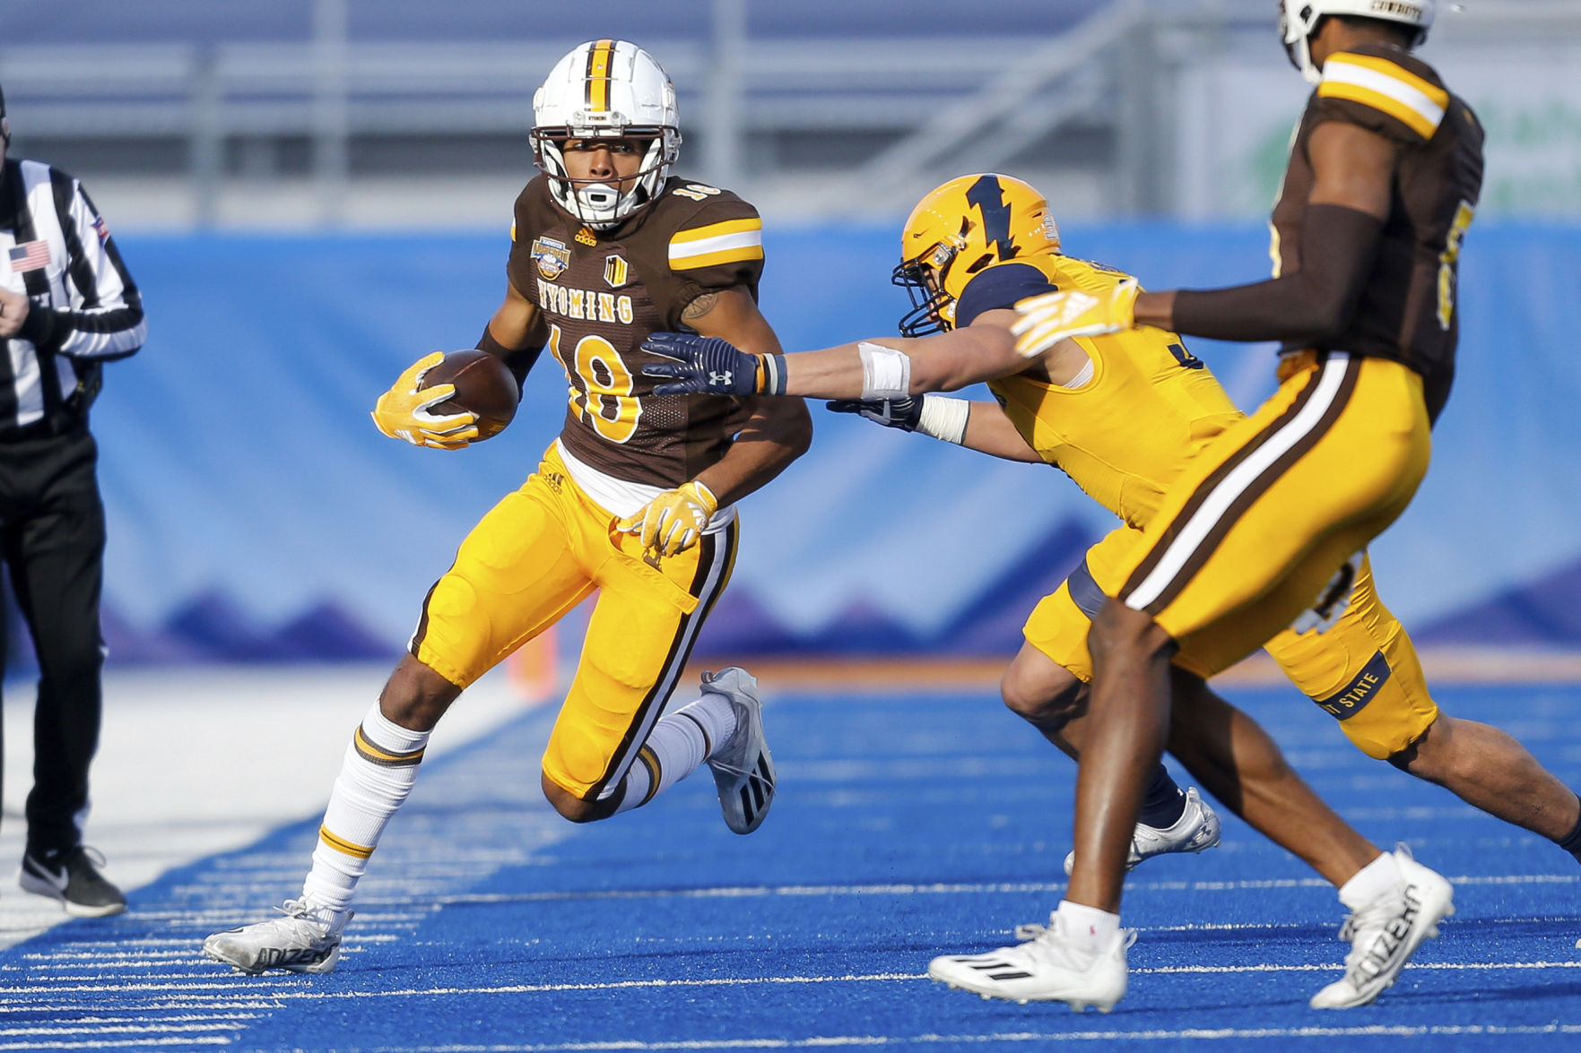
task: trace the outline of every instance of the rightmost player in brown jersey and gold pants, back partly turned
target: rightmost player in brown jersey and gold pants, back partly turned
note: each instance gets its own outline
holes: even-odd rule
[[[1342,598],[1353,553],[1406,509],[1426,473],[1431,421],[1453,375],[1456,261],[1483,171],[1477,119],[1412,54],[1434,6],[1282,2],[1284,43],[1317,87],[1274,207],[1273,280],[1073,289],[1017,305],[1017,348],[1029,356],[1134,326],[1284,343],[1274,397],[1195,459],[1097,582],[1107,601],[1089,636],[1075,868],[1043,968],[1051,998],[1115,972],[1126,852],[1168,727],[1172,655],[1200,640],[1251,653],[1314,598]],[[1450,885],[1406,852],[1380,857],[1339,895],[1358,968],[1314,1007],[1375,998],[1451,911]]]

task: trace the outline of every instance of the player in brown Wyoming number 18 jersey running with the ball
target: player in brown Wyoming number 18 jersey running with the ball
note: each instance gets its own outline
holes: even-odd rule
[[[549,802],[572,822],[606,819],[707,764],[730,830],[751,833],[773,803],[749,674],[705,674],[696,700],[664,707],[730,577],[735,501],[808,447],[811,421],[789,400],[656,395],[640,349],[677,327],[779,349],[757,310],[762,223],[734,193],[669,176],[675,89],[631,43],[575,47],[533,109],[542,171],[517,198],[504,302],[477,346],[519,383],[547,346],[569,386],[564,427],[424,599],[409,653],[346,749],[302,896],[280,919],[204,942],[243,972],[335,966],[356,884],[428,732],[463,688],[594,590],[542,759]],[[454,394],[422,387],[440,357],[378,400],[386,435],[443,449],[477,438],[474,414],[433,411]]]

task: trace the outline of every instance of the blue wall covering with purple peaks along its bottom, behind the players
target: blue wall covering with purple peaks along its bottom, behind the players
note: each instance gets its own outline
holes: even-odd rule
[[[368,421],[408,362],[474,342],[506,242],[120,243],[150,335],[108,367],[93,410],[111,661],[397,655],[468,526],[563,421],[552,360],[515,424],[474,449],[409,447]],[[1257,228],[1075,228],[1066,248],[1156,288],[1266,272]],[[776,231],[767,250],[762,302],[787,349],[893,332],[906,308],[889,226]],[[1462,300],[1432,471],[1374,549],[1383,596],[1428,644],[1581,647],[1581,228],[1473,228]],[[1271,389],[1268,348],[1194,349],[1240,405]],[[1009,653],[1032,602],[1111,526],[1051,468],[814,419],[813,451],[743,504],[702,653]]]

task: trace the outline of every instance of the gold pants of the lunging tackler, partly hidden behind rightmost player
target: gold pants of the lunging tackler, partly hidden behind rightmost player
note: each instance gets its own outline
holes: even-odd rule
[[[1129,528],[1121,530],[1129,533]],[[1092,680],[1086,634],[1104,606],[1104,593],[1089,566],[1102,563],[1107,542],[1105,538],[1094,545],[1081,566],[1026,620],[1028,644],[1083,681]],[[1300,636],[1285,629],[1268,640],[1266,650],[1301,694],[1334,716],[1341,730],[1369,757],[1383,760],[1406,749],[1439,719],[1417,648],[1406,626],[1379,599],[1371,560],[1363,561],[1350,606],[1333,628]],[[1176,662],[1186,669],[1197,664],[1184,653]]]

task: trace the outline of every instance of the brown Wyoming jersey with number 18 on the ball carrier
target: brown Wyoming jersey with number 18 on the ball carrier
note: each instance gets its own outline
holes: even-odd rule
[[[730,447],[740,398],[655,395],[642,375],[651,332],[686,330],[681,311],[711,291],[757,299],[764,269],[757,210],[729,190],[670,177],[655,202],[594,232],[539,176],[515,201],[511,285],[538,305],[549,349],[566,370],[560,441],[572,457],[628,482],[677,487]]]

